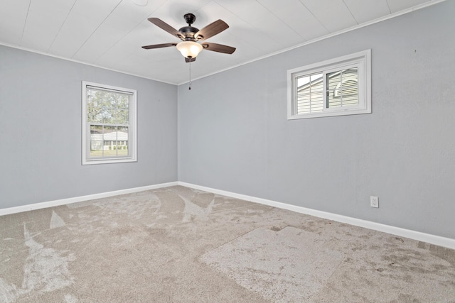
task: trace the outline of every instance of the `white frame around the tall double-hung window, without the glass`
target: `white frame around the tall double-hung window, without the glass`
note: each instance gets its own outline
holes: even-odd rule
[[[87,87],[131,94],[129,102],[129,155],[112,158],[90,158],[90,123],[87,122]],[[104,144],[104,143],[103,143]],[[123,87],[82,81],[82,165],[137,162],[137,91]]]

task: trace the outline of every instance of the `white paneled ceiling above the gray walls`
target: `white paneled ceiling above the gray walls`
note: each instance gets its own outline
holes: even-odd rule
[[[0,43],[172,84],[188,81],[188,63],[176,48],[142,45],[179,42],[147,21],[178,29],[185,13],[196,28],[222,19],[230,28],[208,42],[230,45],[232,55],[203,50],[193,78],[250,62],[373,20],[441,0],[0,0]]]

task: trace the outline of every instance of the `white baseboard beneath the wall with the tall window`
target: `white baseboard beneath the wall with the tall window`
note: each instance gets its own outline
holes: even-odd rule
[[[75,203],[75,202],[82,202],[82,201],[88,201],[88,200],[93,200],[93,199],[101,199],[101,198],[107,198],[107,197],[112,197],[112,196],[118,196],[119,194],[131,194],[133,192],[144,192],[145,190],[157,189],[157,188],[161,188],[161,187],[170,187],[170,186],[175,186],[175,185],[178,185],[178,182],[168,182],[168,183],[154,184],[154,185],[143,186],[143,187],[120,189],[120,190],[114,190],[113,192],[102,192],[100,194],[89,194],[87,196],[81,196],[81,197],[73,197],[73,198],[68,198],[68,199],[59,199],[59,200],[54,200],[54,201],[28,204],[28,205],[23,205],[23,206],[15,206],[15,207],[7,208],[7,209],[0,209],[0,216],[3,216],[5,214],[16,214],[16,213],[19,213],[22,211],[33,211],[34,209],[45,209],[48,207],[59,206],[59,205],[63,205],[63,204],[71,204],[71,203]]]

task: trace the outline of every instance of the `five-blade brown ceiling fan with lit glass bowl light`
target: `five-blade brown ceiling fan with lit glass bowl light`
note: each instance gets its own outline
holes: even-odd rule
[[[235,48],[228,45],[208,42],[198,43],[199,41],[204,41],[205,39],[213,37],[214,35],[217,35],[218,33],[221,33],[225,29],[229,28],[225,21],[217,20],[199,30],[198,28],[191,26],[191,24],[196,21],[196,16],[194,16],[193,13],[186,13],[183,18],[185,18],[188,26],[183,26],[183,28],[180,28],[178,31],[159,18],[148,18],[151,23],[154,23],[154,25],[164,29],[164,31],[170,33],[171,35],[175,35],[177,38],[181,39],[182,42],[145,45],[142,46],[142,48],[150,50],[152,48],[167,48],[169,46],[175,46],[181,52],[183,57],[185,57],[185,62],[196,61],[196,56],[203,49],[225,54],[232,54],[235,52]]]

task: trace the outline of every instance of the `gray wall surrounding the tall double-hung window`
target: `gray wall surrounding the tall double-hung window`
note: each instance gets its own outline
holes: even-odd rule
[[[137,89],[138,161],[81,165],[81,81]],[[177,180],[177,87],[0,45],[0,209]]]

